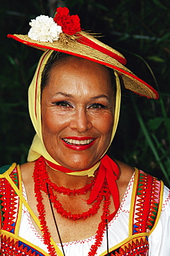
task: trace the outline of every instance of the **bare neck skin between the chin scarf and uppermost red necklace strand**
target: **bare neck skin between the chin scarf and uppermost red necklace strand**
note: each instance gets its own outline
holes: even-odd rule
[[[55,183],[59,187],[70,188],[70,189],[77,189],[82,188],[85,185],[91,183],[93,177],[85,176],[72,176],[66,174],[64,172],[56,171],[51,169],[48,165],[46,165],[46,171],[50,180]]]

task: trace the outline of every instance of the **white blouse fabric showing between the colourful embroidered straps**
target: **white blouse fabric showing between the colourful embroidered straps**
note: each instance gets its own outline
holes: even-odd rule
[[[120,204],[117,214],[108,223],[108,246],[112,248],[116,244],[129,237],[129,213],[131,207],[131,195],[133,190],[134,175],[129,181],[126,192]],[[26,198],[26,192],[23,187],[23,196]],[[19,236],[35,246],[39,246],[48,253],[47,246],[42,237],[32,224],[30,214],[23,204],[21,225]],[[80,241],[64,243],[64,253],[66,256],[87,256],[91,245],[95,243],[95,236]],[[61,245],[57,244],[62,250]],[[102,246],[97,249],[97,256],[106,251],[106,232],[104,233]],[[170,255],[170,191],[164,187],[163,205],[160,219],[157,226],[149,236],[149,256],[169,256]]]

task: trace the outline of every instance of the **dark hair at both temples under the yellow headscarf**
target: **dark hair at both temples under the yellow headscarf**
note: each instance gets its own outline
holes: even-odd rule
[[[44,88],[47,86],[48,84],[48,81],[49,81],[49,77],[50,77],[50,71],[59,63],[63,62],[64,60],[70,58],[70,57],[76,57],[74,55],[69,55],[67,53],[60,53],[60,52],[57,52],[57,51],[54,51],[45,67],[44,67],[44,71],[42,72],[41,74],[41,93],[43,92]],[[77,58],[77,57],[76,57]],[[103,66],[103,65],[102,65]],[[113,72],[113,69],[112,68],[108,68],[107,66],[104,66],[104,68],[106,68],[108,70],[108,73],[110,75],[110,78],[111,78],[111,86],[112,86],[112,89],[113,89],[113,93],[115,95],[115,90],[116,90],[116,81],[115,81],[115,74]]]

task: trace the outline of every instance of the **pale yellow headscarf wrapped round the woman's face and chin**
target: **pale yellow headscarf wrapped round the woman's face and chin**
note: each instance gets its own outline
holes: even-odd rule
[[[52,50],[45,51],[45,53],[41,56],[39,60],[39,64],[37,66],[37,70],[35,71],[35,75],[32,79],[30,87],[28,89],[28,104],[30,111],[30,118],[32,120],[32,124],[35,128],[36,134],[32,141],[32,145],[30,146],[30,150],[28,153],[28,162],[32,162],[37,160],[39,156],[44,156],[44,158],[52,163],[59,165],[46,151],[46,147],[44,146],[42,134],[41,134],[41,74],[44,70],[46,62],[48,61],[50,55],[53,53]],[[113,137],[115,136],[115,131],[117,129],[117,123],[120,115],[120,79],[118,77],[117,71],[114,71],[116,77],[116,101],[115,101],[115,113],[114,113],[114,121],[113,121],[113,131],[111,136],[111,142]],[[111,145],[108,145],[108,147]],[[106,152],[105,152],[106,153]],[[104,154],[105,154],[104,153]],[[82,172],[71,172],[71,175],[79,175],[79,176],[93,176],[97,167],[99,167],[100,161],[96,163],[93,167],[88,170]]]

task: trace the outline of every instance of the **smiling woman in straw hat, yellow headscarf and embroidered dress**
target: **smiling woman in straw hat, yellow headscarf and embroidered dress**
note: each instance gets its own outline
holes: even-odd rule
[[[169,190],[106,155],[120,80],[148,98],[158,93],[67,8],[51,19],[33,20],[28,36],[9,35],[46,51],[29,89],[28,163],[1,168],[1,254],[169,255]]]

